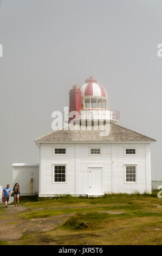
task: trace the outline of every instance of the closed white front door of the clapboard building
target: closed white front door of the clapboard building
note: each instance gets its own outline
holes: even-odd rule
[[[89,193],[102,193],[102,167],[89,167]]]

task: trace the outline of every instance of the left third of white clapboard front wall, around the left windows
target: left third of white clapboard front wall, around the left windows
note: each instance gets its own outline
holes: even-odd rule
[[[53,155],[53,147],[66,147],[66,155]],[[55,163],[67,164],[67,183],[53,184],[52,166]],[[40,194],[75,193],[75,147],[74,144],[42,143],[41,145],[41,191]]]

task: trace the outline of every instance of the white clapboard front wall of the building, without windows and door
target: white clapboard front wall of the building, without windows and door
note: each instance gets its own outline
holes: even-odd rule
[[[66,155],[53,155],[53,147],[66,147]],[[101,148],[101,155],[89,155],[89,148]],[[124,148],[137,148],[125,155]],[[67,184],[53,184],[52,166],[67,164]],[[126,184],[124,164],[137,164],[137,184]],[[40,196],[88,194],[88,168],[102,166],[102,193],[151,193],[150,144],[147,143],[41,143]]]

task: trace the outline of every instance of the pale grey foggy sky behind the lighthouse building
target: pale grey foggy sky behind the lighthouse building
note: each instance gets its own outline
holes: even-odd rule
[[[12,163],[38,162],[34,139],[89,76],[119,125],[157,140],[152,179],[162,179],[161,13],[161,0],[1,0],[1,186],[12,184]]]

